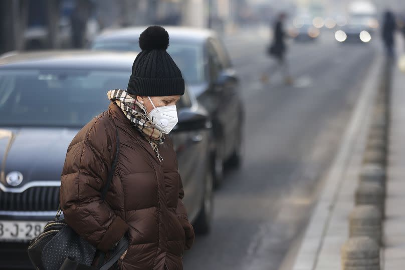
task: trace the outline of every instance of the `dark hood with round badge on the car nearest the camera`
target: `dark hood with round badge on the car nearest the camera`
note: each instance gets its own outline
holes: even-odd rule
[[[23,175],[22,187],[32,181],[60,181],[66,150],[78,129],[0,128],[0,181],[11,187],[6,176]]]

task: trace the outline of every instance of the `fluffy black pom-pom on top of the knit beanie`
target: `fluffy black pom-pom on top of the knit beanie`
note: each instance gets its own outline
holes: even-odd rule
[[[142,51],[166,50],[169,46],[169,34],[161,26],[150,26],[139,36]]]

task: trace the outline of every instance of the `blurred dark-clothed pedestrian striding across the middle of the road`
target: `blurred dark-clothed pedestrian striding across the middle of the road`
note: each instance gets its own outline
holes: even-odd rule
[[[276,23],[274,24],[273,31],[273,41],[268,48],[268,54],[277,60],[277,65],[270,68],[267,74],[264,74],[262,81],[268,82],[270,76],[277,70],[280,69],[284,77],[284,83],[287,85],[292,84],[292,78],[289,75],[288,63],[286,60],[287,45],[285,38],[287,37],[284,32],[284,21],[286,19],[286,14],[281,13],[278,16]]]

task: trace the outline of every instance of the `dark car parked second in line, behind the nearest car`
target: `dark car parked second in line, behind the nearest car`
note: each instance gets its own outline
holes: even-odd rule
[[[110,30],[96,37],[93,50],[140,52],[138,38],[144,27]],[[223,179],[225,162],[239,166],[243,150],[244,109],[238,77],[227,50],[213,31],[166,27],[167,52],[179,66],[186,83],[211,116],[215,134],[213,168],[216,185]]]

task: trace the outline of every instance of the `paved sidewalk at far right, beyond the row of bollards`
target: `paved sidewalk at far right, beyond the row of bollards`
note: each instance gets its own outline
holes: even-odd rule
[[[384,269],[405,268],[405,73],[394,67],[384,221]]]

